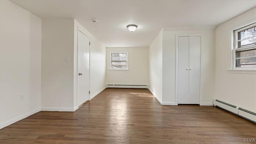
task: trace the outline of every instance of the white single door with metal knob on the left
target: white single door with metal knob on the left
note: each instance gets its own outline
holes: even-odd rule
[[[78,106],[89,100],[90,39],[78,30]]]

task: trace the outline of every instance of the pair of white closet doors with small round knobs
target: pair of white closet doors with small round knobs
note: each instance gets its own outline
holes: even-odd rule
[[[178,37],[178,104],[200,104],[201,36]]]

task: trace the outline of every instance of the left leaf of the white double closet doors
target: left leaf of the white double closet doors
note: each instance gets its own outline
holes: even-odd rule
[[[187,104],[189,92],[189,36],[178,37],[178,104]]]

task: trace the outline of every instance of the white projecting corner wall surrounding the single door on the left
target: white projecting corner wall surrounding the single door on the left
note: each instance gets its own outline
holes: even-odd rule
[[[90,99],[105,89],[106,47],[72,18],[43,19],[42,110],[74,111],[78,108],[78,28],[91,42]]]

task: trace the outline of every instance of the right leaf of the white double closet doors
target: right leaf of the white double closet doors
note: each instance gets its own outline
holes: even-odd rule
[[[189,104],[200,104],[201,36],[189,37]]]

